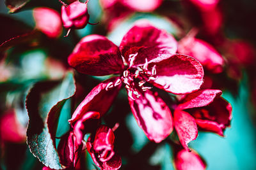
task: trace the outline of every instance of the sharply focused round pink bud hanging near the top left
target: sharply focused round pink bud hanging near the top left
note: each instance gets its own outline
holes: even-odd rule
[[[61,18],[66,29],[83,29],[89,22],[87,3],[75,1],[61,7]]]

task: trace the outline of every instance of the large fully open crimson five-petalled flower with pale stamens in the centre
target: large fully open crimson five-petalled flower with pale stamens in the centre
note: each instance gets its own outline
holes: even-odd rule
[[[198,90],[204,76],[202,65],[197,60],[175,54],[176,50],[177,42],[172,35],[145,20],[136,22],[125,34],[120,48],[104,36],[90,35],[81,39],[68,57],[70,66],[93,76],[120,76],[95,87],[77,107],[70,123],[88,111],[104,114],[120,85],[124,84],[132,113],[141,129],[150,140],[162,141],[172,132],[172,115],[157,93],[149,89],[154,85],[173,94],[186,94]],[[88,110],[96,101],[100,104],[93,106],[95,110]]]

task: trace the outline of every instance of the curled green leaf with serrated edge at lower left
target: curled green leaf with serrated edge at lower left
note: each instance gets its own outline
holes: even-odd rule
[[[29,115],[27,142],[30,151],[45,166],[63,169],[56,151],[56,129],[65,101],[76,92],[72,73],[60,81],[44,81],[30,90],[26,108]]]

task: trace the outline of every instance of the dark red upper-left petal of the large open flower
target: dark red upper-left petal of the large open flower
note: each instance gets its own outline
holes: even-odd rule
[[[93,76],[120,73],[124,67],[118,46],[100,35],[81,39],[68,57],[68,64]]]

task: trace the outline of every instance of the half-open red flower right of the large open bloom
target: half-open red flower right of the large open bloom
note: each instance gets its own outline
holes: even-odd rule
[[[174,127],[186,150],[188,143],[196,139],[198,128],[223,136],[225,128],[230,126],[232,107],[220,97],[221,93],[221,90],[198,90],[180,100],[174,111]]]

